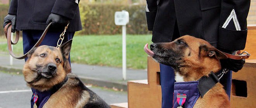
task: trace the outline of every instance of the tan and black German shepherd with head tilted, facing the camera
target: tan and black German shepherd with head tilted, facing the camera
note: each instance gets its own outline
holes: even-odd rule
[[[71,43],[69,40],[59,48],[47,45],[34,48],[23,68],[27,85],[39,91],[58,88],[43,108],[111,108],[70,73],[68,57]]]

